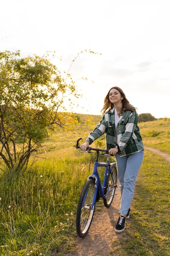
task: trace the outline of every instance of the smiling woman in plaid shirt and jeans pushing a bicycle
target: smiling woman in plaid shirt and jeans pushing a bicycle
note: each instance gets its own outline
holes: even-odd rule
[[[115,155],[116,158],[121,191],[119,219],[115,231],[122,232],[125,229],[126,218],[130,217],[135,181],[144,158],[144,144],[138,126],[136,109],[129,103],[119,87],[112,87],[109,90],[104,99],[102,114],[102,121],[80,148],[86,150],[95,139],[106,133],[107,149],[109,149],[109,154]],[[114,141],[119,145],[119,155]]]

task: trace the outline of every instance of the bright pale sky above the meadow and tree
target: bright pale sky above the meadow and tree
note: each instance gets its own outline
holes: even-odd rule
[[[55,51],[82,93],[77,113],[100,115],[120,87],[138,114],[170,118],[169,0],[6,0],[0,51],[21,56]],[[87,80],[82,80],[86,77]]]

